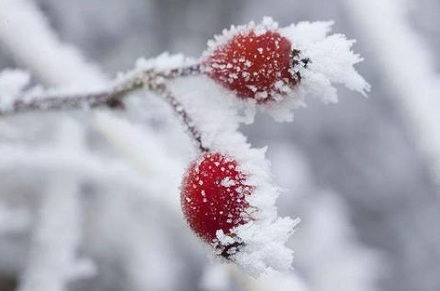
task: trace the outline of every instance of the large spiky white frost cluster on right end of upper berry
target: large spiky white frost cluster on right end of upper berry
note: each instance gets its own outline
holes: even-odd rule
[[[362,58],[355,54],[351,47],[354,40],[347,40],[343,34],[328,35],[333,22],[300,22],[280,29],[301,51],[299,59],[307,58],[310,62],[300,67],[299,85],[279,103],[269,104],[269,113],[277,121],[290,121],[293,118],[291,109],[304,105],[308,96],[321,99],[324,103],[338,101],[334,84],[366,95],[370,85],[356,71],[354,65]],[[299,104],[295,104],[299,102]]]

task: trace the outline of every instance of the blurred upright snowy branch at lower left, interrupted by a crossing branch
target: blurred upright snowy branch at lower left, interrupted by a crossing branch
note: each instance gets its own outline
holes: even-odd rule
[[[83,130],[72,120],[60,126],[59,142],[72,151],[84,147]],[[39,219],[33,230],[29,261],[20,282],[20,291],[68,290],[70,281],[95,275],[88,259],[78,259],[83,214],[81,181],[74,174],[54,174],[42,198]]]

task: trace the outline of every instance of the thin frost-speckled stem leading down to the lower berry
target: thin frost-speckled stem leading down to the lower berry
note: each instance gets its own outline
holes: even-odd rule
[[[201,152],[208,152],[209,149],[205,147],[202,143],[202,135],[199,129],[194,124],[191,117],[188,115],[188,112],[184,109],[183,105],[176,99],[174,94],[166,87],[165,84],[158,84],[155,90],[158,94],[160,94],[165,101],[171,106],[174,112],[179,116],[182,123],[185,125],[186,130],[191,135],[192,139],[196,142],[199,150]]]

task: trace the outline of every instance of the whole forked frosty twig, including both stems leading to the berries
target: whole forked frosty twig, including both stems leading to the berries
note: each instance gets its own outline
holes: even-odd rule
[[[22,89],[29,81],[28,75],[23,73],[22,77],[17,71],[4,71],[0,74],[0,89],[5,87],[6,90],[0,91],[8,95],[0,96],[0,101],[3,101],[0,102],[0,116],[29,111],[89,109],[98,106],[123,108],[125,97],[136,90],[146,89],[162,96],[185,125],[199,149],[208,151],[202,145],[201,134],[195,127],[191,117],[166,85],[167,80],[199,74],[199,65],[197,63],[187,65],[188,61],[181,59],[179,56],[176,62],[175,56],[168,57],[166,54],[159,56],[158,59],[163,63],[167,58],[175,63],[174,67],[157,70],[152,65],[158,62],[150,60],[146,63],[147,67],[137,67],[131,72],[121,74],[113,81],[114,85],[110,89],[95,93],[63,94],[63,91],[56,93],[56,90],[52,90],[42,95],[41,93],[35,94],[31,90],[30,93],[26,94],[25,92],[23,94]]]

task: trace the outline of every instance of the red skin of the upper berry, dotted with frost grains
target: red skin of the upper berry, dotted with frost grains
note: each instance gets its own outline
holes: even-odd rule
[[[293,87],[298,82],[292,71],[292,49],[291,42],[276,31],[257,35],[250,30],[211,52],[202,68],[239,98],[266,103],[275,94],[282,95],[280,84]]]

